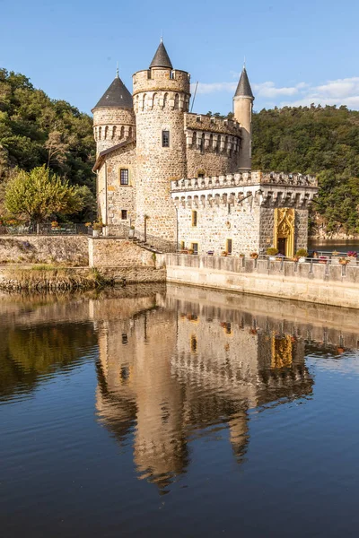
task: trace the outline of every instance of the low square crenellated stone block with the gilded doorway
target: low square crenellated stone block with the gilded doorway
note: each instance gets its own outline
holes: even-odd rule
[[[193,178],[171,182],[171,195],[178,212],[181,248],[197,254],[250,254],[278,247],[276,210],[293,214],[293,245],[286,256],[307,247],[308,206],[317,192],[316,180],[285,174],[247,172],[215,178]],[[285,213],[284,213],[285,214]]]

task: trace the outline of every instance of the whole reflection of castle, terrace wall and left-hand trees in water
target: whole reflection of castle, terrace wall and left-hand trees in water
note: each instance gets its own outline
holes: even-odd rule
[[[306,357],[356,348],[350,309],[175,285],[3,298],[0,404],[94,361],[98,423],[165,491],[186,472],[193,439],[228,438],[241,464],[255,410],[311,397]]]

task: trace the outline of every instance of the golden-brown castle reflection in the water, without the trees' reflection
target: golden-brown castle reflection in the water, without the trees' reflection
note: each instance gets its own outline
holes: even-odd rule
[[[228,429],[241,463],[250,409],[312,394],[305,347],[323,328],[270,317],[263,299],[171,286],[121,308],[106,302],[94,306],[106,316],[93,312],[98,417],[119,443],[133,443],[138,476],[160,488],[186,471],[190,439],[204,429]]]

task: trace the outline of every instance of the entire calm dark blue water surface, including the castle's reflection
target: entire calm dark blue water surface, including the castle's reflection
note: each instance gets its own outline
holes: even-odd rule
[[[355,310],[185,287],[0,301],[0,535],[348,537]]]

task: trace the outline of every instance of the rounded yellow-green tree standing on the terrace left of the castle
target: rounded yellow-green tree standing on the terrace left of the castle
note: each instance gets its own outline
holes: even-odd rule
[[[80,187],[70,186],[43,165],[30,172],[20,170],[6,186],[4,204],[16,217],[43,222],[55,214],[78,213],[84,196]]]

